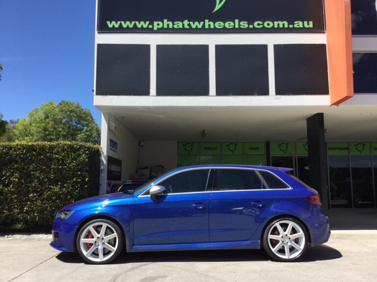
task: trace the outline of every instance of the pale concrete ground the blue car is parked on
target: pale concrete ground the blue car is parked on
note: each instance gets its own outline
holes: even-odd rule
[[[330,240],[293,263],[240,250],[133,253],[88,265],[51,248],[51,235],[0,235],[0,282],[377,281],[377,210],[331,210],[330,224]]]

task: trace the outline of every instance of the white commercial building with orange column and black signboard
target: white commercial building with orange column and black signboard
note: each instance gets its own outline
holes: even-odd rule
[[[267,164],[325,207],[376,208],[376,36],[375,0],[97,0],[100,192],[142,167]]]

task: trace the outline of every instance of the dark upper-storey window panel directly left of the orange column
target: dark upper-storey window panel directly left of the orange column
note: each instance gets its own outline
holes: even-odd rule
[[[274,45],[276,95],[327,95],[324,44]]]

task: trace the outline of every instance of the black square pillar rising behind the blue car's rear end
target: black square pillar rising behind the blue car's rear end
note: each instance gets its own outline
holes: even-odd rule
[[[323,113],[306,119],[309,157],[309,184],[321,196],[324,214],[328,215],[329,192]]]

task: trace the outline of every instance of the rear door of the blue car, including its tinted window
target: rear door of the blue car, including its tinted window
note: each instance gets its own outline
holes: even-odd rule
[[[209,208],[210,242],[250,240],[275,195],[252,169],[216,169]]]

